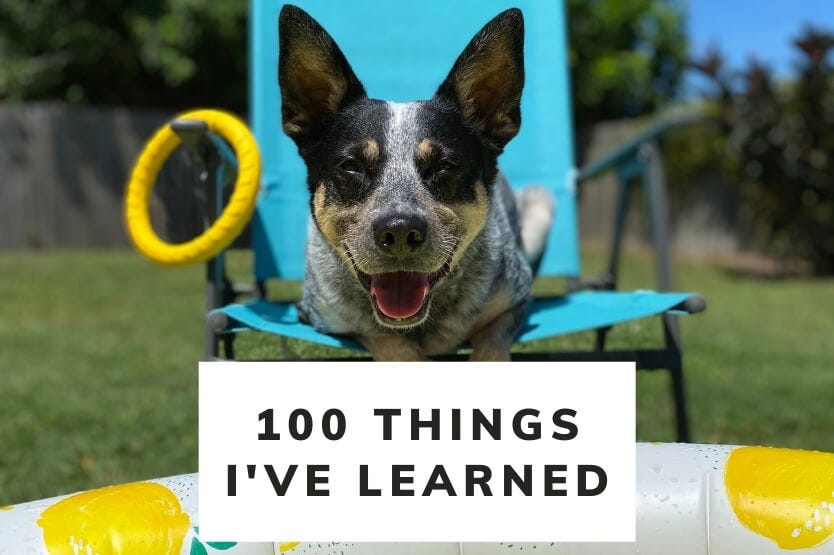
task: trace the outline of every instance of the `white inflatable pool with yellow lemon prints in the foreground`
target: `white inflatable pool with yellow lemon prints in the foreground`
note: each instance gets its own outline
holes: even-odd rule
[[[204,542],[189,474],[3,507],[0,553],[834,555],[834,454],[644,443],[637,468],[636,543]]]

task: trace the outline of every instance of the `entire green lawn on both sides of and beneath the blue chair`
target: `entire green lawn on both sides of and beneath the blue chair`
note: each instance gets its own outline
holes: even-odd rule
[[[834,282],[676,270],[709,305],[682,320],[695,440],[834,451]],[[651,286],[650,259],[627,257],[621,281]],[[196,470],[202,283],[202,267],[127,251],[0,253],[0,505]],[[659,341],[656,320],[610,336],[613,348]],[[239,343],[249,358],[325,354],[259,334]],[[673,439],[666,375],[637,380],[638,437]]]

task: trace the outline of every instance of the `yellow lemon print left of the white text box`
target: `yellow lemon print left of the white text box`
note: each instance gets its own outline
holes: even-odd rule
[[[50,555],[179,553],[189,523],[171,490],[147,482],[67,497],[38,520]]]

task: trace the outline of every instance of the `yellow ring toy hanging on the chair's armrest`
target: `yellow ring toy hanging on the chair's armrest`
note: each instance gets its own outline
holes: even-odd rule
[[[231,198],[211,227],[185,243],[166,243],[151,226],[148,202],[162,164],[181,140],[166,124],[145,145],[127,185],[125,221],[133,244],[142,254],[171,266],[205,262],[228,247],[252,217],[261,176],[258,145],[238,118],[217,110],[194,110],[177,119],[204,121],[209,131],[225,139],[237,157],[238,172]]]

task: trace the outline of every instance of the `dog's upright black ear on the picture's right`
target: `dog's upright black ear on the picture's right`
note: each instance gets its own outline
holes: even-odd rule
[[[503,148],[521,126],[524,18],[511,8],[469,42],[437,90],[490,143]]]

